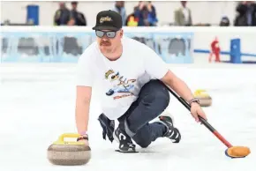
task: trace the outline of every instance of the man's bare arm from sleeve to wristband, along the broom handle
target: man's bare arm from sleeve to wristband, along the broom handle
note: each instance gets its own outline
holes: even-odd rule
[[[183,80],[177,78],[172,71],[168,71],[161,80],[164,84],[169,85],[169,87],[172,88],[184,100],[189,101],[194,98],[190,88],[184,83]]]

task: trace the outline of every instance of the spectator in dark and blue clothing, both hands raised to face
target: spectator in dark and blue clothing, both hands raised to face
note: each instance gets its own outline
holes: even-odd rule
[[[139,5],[134,11],[134,16],[139,19],[138,26],[156,26],[158,22],[156,11],[151,1],[139,1]]]

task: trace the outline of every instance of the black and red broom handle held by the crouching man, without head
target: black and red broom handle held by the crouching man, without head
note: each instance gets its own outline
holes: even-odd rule
[[[179,97],[176,93],[174,93],[164,83],[162,83],[162,85],[164,85],[169,90],[169,93],[172,93],[172,95],[174,95],[177,98],[177,100],[179,100],[184,105],[185,108],[187,108],[189,111],[191,111],[191,106],[182,97]],[[215,130],[215,128],[210,123],[207,122],[207,120],[205,120],[200,115],[199,115],[199,119],[200,119],[200,122],[203,123],[203,125],[205,125],[207,127],[207,129],[210,130],[215,135],[216,138],[221,140],[224,145],[226,145],[228,148],[232,147],[232,145],[229,143],[229,141],[227,141],[225,138],[223,138],[222,135],[217,130]]]

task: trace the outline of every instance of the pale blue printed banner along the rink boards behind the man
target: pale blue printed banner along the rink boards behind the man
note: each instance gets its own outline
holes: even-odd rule
[[[165,63],[193,63],[193,33],[125,32],[125,35],[154,49]],[[1,39],[1,63],[77,63],[83,51],[95,41],[95,34],[18,31],[2,32]]]

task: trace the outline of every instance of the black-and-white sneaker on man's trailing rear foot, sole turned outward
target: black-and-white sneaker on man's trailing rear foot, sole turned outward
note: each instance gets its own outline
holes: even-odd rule
[[[179,143],[181,135],[179,130],[174,127],[171,117],[159,116],[159,119],[160,122],[167,128],[167,132],[163,135],[163,137],[169,138],[173,143]]]

